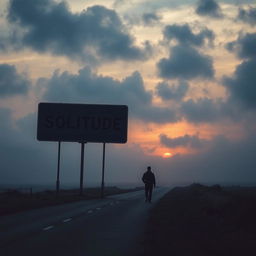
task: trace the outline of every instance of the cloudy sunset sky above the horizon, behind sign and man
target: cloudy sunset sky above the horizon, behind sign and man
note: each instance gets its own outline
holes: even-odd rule
[[[0,0],[0,184],[55,184],[39,102],[121,104],[128,141],[106,145],[106,185],[256,184],[256,4],[251,0]],[[85,146],[85,186],[102,144]],[[61,185],[80,144],[61,145]]]

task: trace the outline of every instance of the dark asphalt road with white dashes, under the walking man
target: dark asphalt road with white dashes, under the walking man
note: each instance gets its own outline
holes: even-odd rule
[[[169,189],[32,210],[0,219],[1,256],[141,255],[149,210]]]

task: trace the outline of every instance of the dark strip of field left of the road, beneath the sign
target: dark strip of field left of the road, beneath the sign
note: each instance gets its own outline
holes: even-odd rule
[[[141,187],[132,189],[121,189],[118,187],[105,187],[104,195],[121,194],[136,190]],[[84,189],[84,194],[79,195],[77,189],[61,190],[59,195],[53,190],[46,190],[37,193],[30,193],[29,190],[5,189],[0,193],[0,216],[14,214],[30,209],[42,208],[47,206],[71,203],[81,200],[97,199],[101,196],[100,188]]]

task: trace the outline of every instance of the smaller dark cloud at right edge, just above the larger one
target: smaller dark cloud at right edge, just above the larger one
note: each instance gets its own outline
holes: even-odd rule
[[[226,48],[235,52],[241,59],[256,58],[256,33],[247,33],[243,36],[239,36],[236,41],[230,42],[226,45]]]

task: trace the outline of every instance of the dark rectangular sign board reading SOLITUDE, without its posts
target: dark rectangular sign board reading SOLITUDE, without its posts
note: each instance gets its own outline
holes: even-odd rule
[[[125,105],[38,105],[37,139],[40,141],[126,143],[127,125]]]

